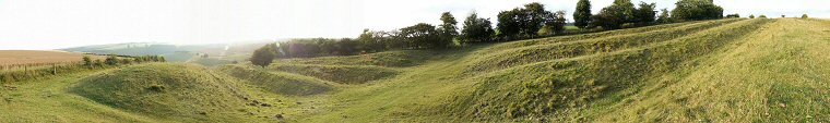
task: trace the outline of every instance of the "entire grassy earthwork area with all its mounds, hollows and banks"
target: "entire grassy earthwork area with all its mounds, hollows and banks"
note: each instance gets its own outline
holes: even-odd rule
[[[0,88],[0,122],[830,122],[830,21],[731,19]]]

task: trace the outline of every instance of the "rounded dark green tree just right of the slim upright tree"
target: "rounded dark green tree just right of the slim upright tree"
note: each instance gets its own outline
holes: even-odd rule
[[[462,42],[487,41],[496,33],[487,19],[479,19],[478,14],[473,13],[464,21],[464,27],[461,29]]]

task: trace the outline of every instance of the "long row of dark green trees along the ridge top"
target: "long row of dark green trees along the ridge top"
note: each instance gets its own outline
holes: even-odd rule
[[[580,0],[573,12],[573,25],[581,29],[619,29],[685,21],[716,20],[723,17],[723,8],[712,0],[679,0],[672,11],[662,9],[659,15],[655,3],[615,0],[609,7],[592,14],[591,1]],[[490,19],[471,13],[456,28],[458,22],[450,12],[440,15],[439,25],[418,23],[400,29],[364,32],[357,38],[294,39],[265,45],[249,59],[265,66],[273,59],[353,56],[400,49],[447,49],[477,42],[509,41],[566,34],[566,12],[548,11],[538,2],[501,11],[493,27]]]

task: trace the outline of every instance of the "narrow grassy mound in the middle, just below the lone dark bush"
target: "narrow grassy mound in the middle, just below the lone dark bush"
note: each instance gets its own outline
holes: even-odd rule
[[[223,65],[218,67],[230,76],[245,79],[275,94],[306,96],[328,93],[333,89],[333,83],[313,77],[285,72],[268,72],[245,65]]]

